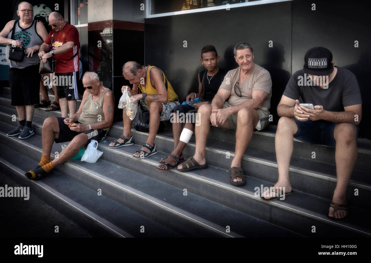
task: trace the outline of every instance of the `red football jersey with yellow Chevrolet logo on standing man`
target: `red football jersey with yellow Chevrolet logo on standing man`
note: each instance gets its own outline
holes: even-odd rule
[[[77,56],[74,57],[73,59],[70,59],[71,57],[73,57],[73,55],[76,54],[76,52],[79,51],[80,48],[79,31],[76,29],[75,26],[72,26],[66,21],[65,27],[63,27],[61,31],[55,32],[54,30],[51,30],[49,32],[49,35],[47,36],[44,42],[48,46],[52,41],[53,34],[55,34],[55,36],[52,43],[52,50],[58,49],[58,47],[62,46],[63,44],[69,41],[75,43],[72,49],[69,49],[66,52],[63,52],[62,54],[54,56],[54,59],[56,60],[55,72],[68,73],[79,71],[79,54],[77,54]]]

